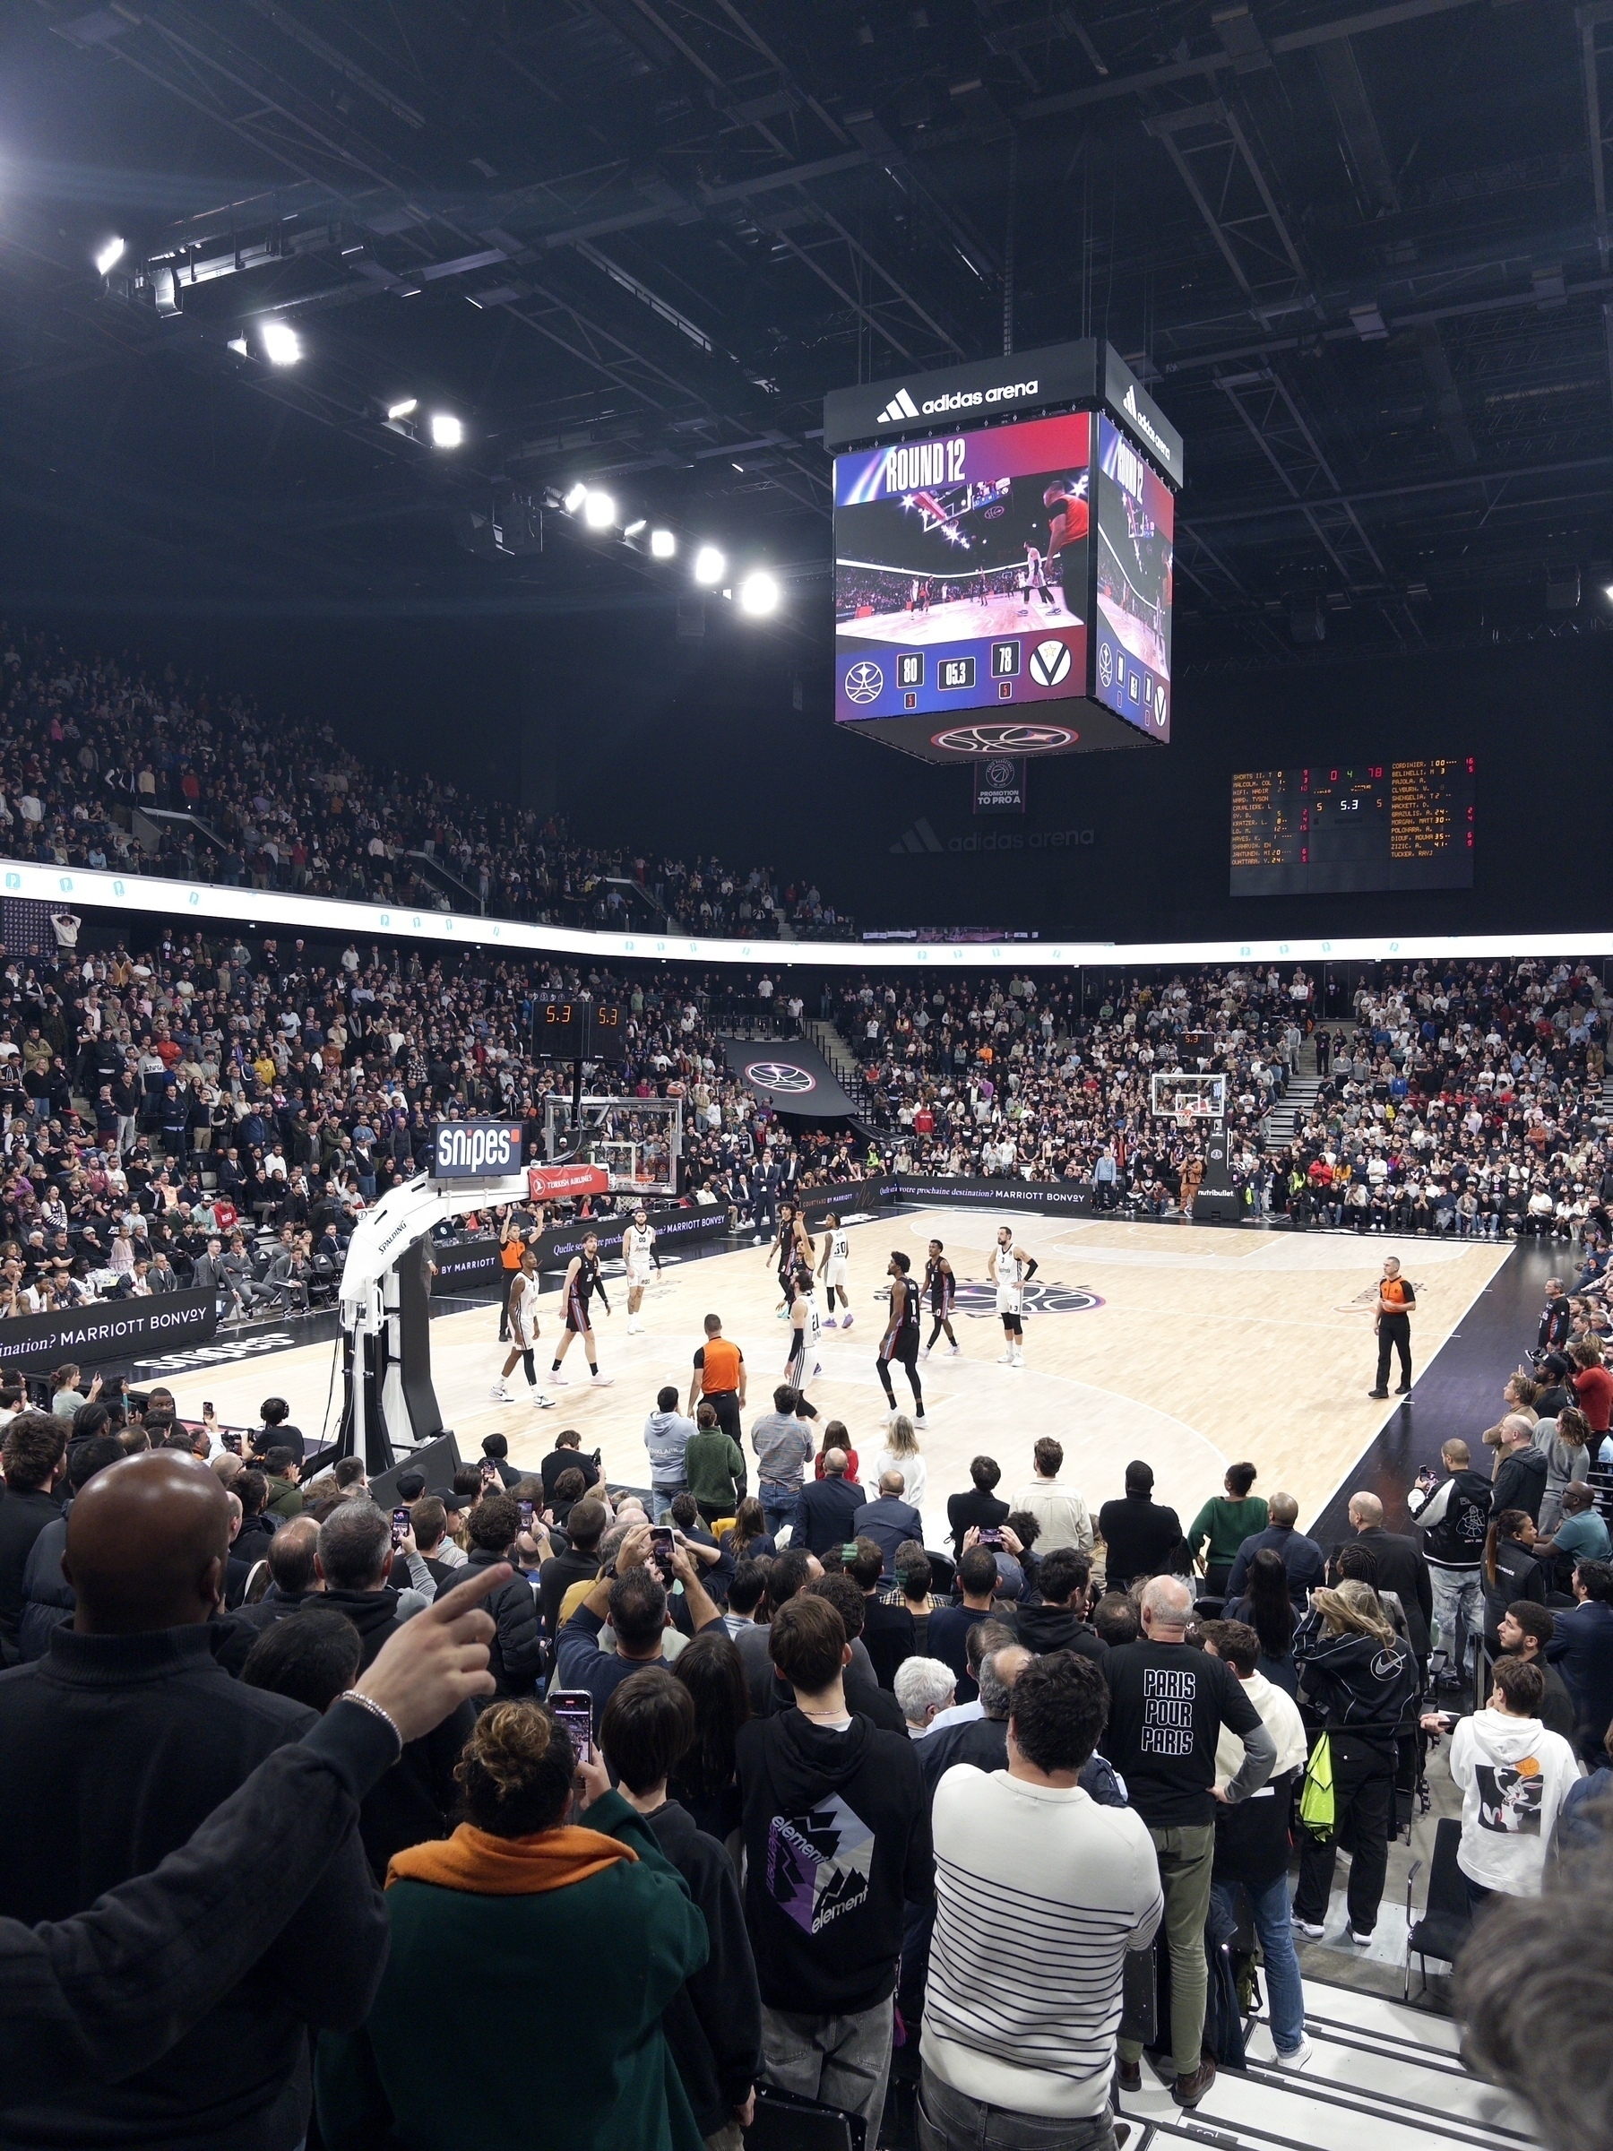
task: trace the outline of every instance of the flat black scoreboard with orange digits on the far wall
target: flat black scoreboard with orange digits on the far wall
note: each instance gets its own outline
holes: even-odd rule
[[[1471,886],[1471,755],[1232,777],[1234,897]]]

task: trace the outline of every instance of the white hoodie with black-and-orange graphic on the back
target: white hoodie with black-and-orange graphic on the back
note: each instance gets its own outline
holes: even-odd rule
[[[1482,1889],[1538,1897],[1557,1809],[1579,1777],[1570,1744],[1540,1719],[1478,1710],[1452,1734],[1450,1775],[1462,1787],[1456,1865]]]

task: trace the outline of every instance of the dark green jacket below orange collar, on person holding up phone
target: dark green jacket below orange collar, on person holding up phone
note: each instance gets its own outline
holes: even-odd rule
[[[660,2013],[705,1964],[705,1919],[619,1794],[585,1828],[637,1865],[536,1897],[394,1882],[370,2020],[318,2041],[329,2151],[703,2151]]]

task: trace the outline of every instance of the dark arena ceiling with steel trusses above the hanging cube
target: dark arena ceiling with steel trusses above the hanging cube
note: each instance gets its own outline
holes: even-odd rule
[[[826,647],[824,391],[1099,336],[1185,669],[1594,632],[1611,77],[1613,0],[11,0],[6,594],[667,611],[718,538]]]

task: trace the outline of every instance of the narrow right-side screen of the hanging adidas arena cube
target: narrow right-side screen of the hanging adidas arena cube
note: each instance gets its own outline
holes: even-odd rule
[[[1097,443],[1097,699],[1168,742],[1176,501],[1103,415]]]

